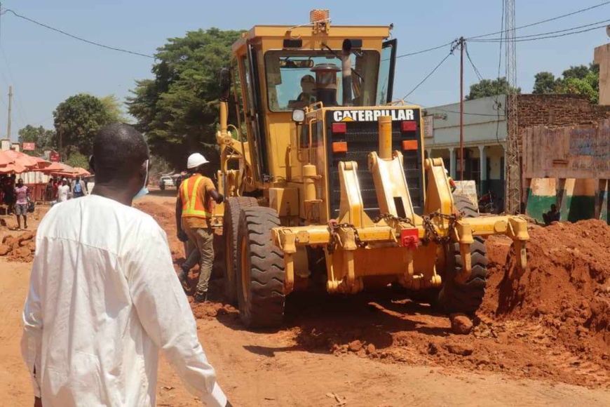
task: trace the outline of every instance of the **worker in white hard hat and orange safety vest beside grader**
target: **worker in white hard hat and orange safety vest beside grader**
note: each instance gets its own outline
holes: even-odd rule
[[[224,200],[224,196],[216,190],[212,180],[203,175],[208,162],[199,153],[189,156],[187,168],[191,176],[182,180],[176,201],[178,239],[188,240],[189,252],[187,261],[182,265],[179,279],[185,291],[188,291],[187,276],[191,268],[199,262],[201,274],[195,293],[196,302],[208,300],[208,283],[214,263],[214,231],[210,225],[211,200],[214,199],[217,204]]]

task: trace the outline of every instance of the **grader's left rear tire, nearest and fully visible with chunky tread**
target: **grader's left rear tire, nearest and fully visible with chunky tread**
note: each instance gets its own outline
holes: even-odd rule
[[[280,226],[271,208],[244,208],[239,217],[239,315],[248,328],[275,328],[284,316],[284,257],[271,241]]]

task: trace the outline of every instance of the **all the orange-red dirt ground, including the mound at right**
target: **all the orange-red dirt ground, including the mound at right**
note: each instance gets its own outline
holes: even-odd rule
[[[180,262],[174,194],[138,206]],[[294,296],[285,327],[252,333],[212,295],[194,305],[201,342],[235,406],[608,406],[610,228],[588,222],[532,229],[531,267],[516,282],[503,278],[510,242],[491,239],[489,290],[470,335],[393,293]],[[32,401],[19,355],[28,274],[28,263],[0,260],[0,406]],[[158,392],[158,406],[201,405],[165,362]]]

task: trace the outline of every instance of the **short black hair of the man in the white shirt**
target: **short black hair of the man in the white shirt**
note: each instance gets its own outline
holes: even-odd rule
[[[144,136],[127,124],[110,124],[93,141],[95,180],[127,180],[149,159]]]

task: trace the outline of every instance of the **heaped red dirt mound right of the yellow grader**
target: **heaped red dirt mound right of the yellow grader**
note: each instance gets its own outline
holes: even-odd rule
[[[553,342],[610,367],[610,226],[601,220],[533,226],[528,266],[510,280],[510,240],[492,236],[483,314],[544,326]]]

